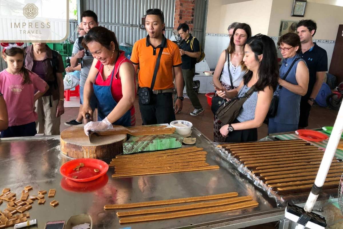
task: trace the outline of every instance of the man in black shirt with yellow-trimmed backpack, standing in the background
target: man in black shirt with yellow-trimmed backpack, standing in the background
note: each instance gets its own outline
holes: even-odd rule
[[[186,23],[180,24],[177,31],[182,38],[180,54],[182,60],[182,75],[184,76],[184,88],[194,107],[190,115],[197,116],[204,112],[197,93],[193,90],[193,78],[197,58],[200,56],[199,41],[189,33],[189,26]]]

